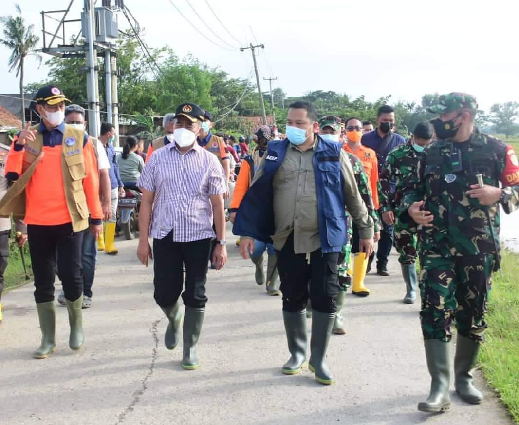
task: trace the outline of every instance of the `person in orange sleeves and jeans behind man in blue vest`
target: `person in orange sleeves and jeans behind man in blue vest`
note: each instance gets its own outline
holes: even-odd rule
[[[233,200],[229,208],[229,220],[234,223],[236,212],[241,204],[245,192],[249,189],[252,179],[254,178],[254,171],[260,165],[261,158],[267,151],[267,144],[272,140],[272,132],[267,125],[260,127],[254,135],[257,147],[250,154],[245,156],[240,168],[240,174],[236,180],[234,188]],[[267,277],[263,270],[263,254],[267,250]],[[278,282],[278,269],[276,267],[276,251],[272,244],[267,244],[260,241],[254,241],[254,251],[251,254],[251,260],[256,265],[255,279],[258,285],[266,284],[268,295],[281,295]]]

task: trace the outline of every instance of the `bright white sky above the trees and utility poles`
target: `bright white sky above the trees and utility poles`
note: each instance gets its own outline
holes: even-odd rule
[[[16,2],[7,3],[1,13],[16,14]],[[40,11],[66,8],[69,0],[46,3],[42,8],[40,0],[18,0],[38,35]],[[263,77],[277,77],[273,87],[289,96],[333,90],[353,98],[365,95],[368,101],[391,95],[392,102],[419,103],[426,93],[464,91],[476,96],[486,111],[494,103],[519,102],[519,2],[125,0],[125,4],[144,29],[142,38],[148,46],[169,45],[180,57],[190,52],[233,77],[249,77],[253,68],[250,50],[241,52],[239,47],[263,43],[265,49],[257,58],[263,90],[268,89]],[[82,7],[83,2],[75,0],[69,17],[79,19]],[[120,29],[128,28],[122,14],[118,19]],[[73,29],[71,33],[76,32]],[[18,92],[18,79],[8,72],[8,57],[9,51],[1,46],[2,93]],[[44,60],[48,58],[44,55]],[[47,77],[48,68],[38,69],[32,58],[26,68],[26,83]]]

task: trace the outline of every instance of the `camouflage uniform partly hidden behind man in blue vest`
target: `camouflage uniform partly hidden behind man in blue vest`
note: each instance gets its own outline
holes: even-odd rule
[[[366,204],[368,214],[373,218],[374,230],[375,232],[380,231],[380,223],[378,220],[377,211],[373,205],[373,199],[371,197],[371,189],[370,185],[367,181],[367,176],[364,171],[364,166],[360,162],[357,156],[346,152],[348,157],[350,158],[351,167],[353,168],[353,174],[355,175],[355,179],[357,181],[357,187],[359,188],[360,195],[362,200]],[[346,217],[348,217],[348,236],[349,243],[343,246],[342,252],[339,254],[339,284],[340,287],[346,289],[351,285],[351,276],[348,274],[348,270],[350,268],[350,255],[351,255],[351,235],[352,235],[352,227],[351,221],[349,220],[348,211],[346,211]]]

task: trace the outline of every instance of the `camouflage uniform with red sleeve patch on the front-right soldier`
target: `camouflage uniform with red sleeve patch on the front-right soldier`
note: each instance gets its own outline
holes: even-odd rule
[[[452,158],[459,150],[458,169]],[[487,287],[495,270],[495,252],[485,208],[466,192],[477,184],[499,187],[506,198],[501,205],[507,214],[519,205],[519,167],[511,147],[474,130],[470,140],[457,143],[439,140],[422,154],[415,176],[406,185],[400,220],[411,231],[416,224],[407,209],[425,200],[432,227],[419,230],[421,327],[424,338],[448,342],[453,318],[458,334],[483,341]],[[461,169],[459,169],[461,168]],[[499,234],[499,205],[489,207],[491,225]],[[497,241],[498,242],[498,241]],[[499,243],[499,242],[498,242]]]

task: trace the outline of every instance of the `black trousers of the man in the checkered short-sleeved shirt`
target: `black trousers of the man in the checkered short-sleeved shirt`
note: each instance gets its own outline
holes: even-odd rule
[[[193,242],[173,242],[170,232],[163,239],[153,240],[154,298],[160,307],[172,306],[182,293],[183,268],[186,268],[184,304],[204,307],[207,303],[206,282],[211,239]]]

